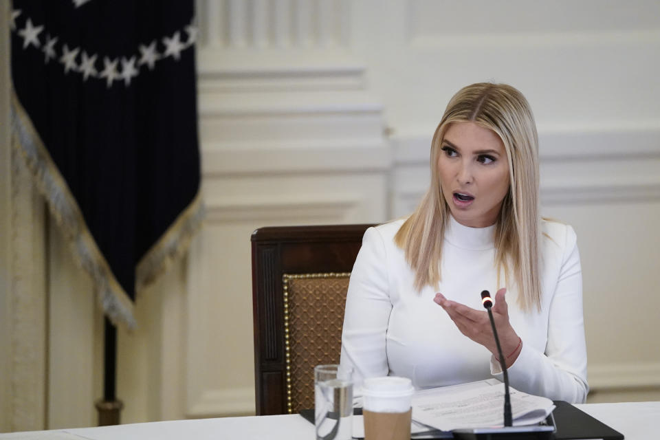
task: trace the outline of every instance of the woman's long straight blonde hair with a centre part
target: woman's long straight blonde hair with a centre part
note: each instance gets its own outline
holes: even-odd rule
[[[540,310],[538,248],[538,135],[529,103],[520,91],[505,84],[477,83],[463,87],[447,105],[431,143],[431,184],[419,206],[401,225],[395,242],[415,272],[415,288],[437,287],[441,280],[442,242],[449,219],[443,197],[438,158],[452,122],[475,122],[502,140],[509,162],[509,192],[495,228],[495,266],[498,274],[513,275],[518,305]]]

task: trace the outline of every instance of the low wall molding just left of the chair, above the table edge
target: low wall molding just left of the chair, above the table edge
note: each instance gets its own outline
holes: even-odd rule
[[[207,390],[186,407],[186,417],[254,415],[254,388]]]

